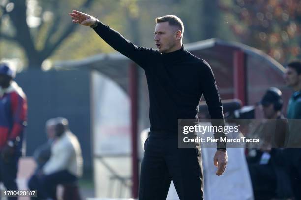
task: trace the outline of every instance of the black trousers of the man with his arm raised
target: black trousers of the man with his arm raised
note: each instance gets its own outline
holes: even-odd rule
[[[166,200],[171,180],[180,200],[203,200],[199,144],[178,148],[177,134],[151,132],[144,145],[139,200]]]

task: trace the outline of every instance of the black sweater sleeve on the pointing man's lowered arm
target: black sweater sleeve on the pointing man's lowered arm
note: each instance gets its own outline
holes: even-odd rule
[[[201,88],[202,93],[204,95],[208,112],[211,117],[212,126],[225,126],[224,114],[223,114],[223,106],[220,99],[220,95],[217,89],[217,85],[215,82],[215,77],[210,65],[203,61],[203,72],[202,72],[202,82]],[[215,138],[225,137],[223,132],[215,132]],[[225,143],[218,143],[218,149],[225,149]]]

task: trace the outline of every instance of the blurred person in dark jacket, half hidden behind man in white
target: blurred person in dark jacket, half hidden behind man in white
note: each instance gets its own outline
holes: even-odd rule
[[[41,169],[45,165],[45,163],[49,160],[51,156],[51,145],[55,138],[55,126],[56,126],[56,119],[52,118],[46,121],[45,129],[47,134],[47,142],[40,147],[38,147],[34,153],[33,157],[37,164],[35,173],[30,177],[28,181],[28,188],[30,190],[34,190],[38,188],[39,184],[41,184],[41,177],[42,175]]]

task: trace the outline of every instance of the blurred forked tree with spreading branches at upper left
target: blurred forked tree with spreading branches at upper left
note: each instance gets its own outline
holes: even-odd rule
[[[70,1],[71,2],[71,1]],[[28,67],[40,68],[61,43],[78,27],[65,17],[68,1],[60,0],[2,0],[1,22],[9,17],[9,25],[1,28],[0,38],[17,43],[23,48]],[[78,9],[89,8],[93,0],[72,1],[81,4]],[[70,5],[70,4],[69,4]],[[2,25],[4,26],[4,25]],[[12,31],[13,30],[13,31]]]

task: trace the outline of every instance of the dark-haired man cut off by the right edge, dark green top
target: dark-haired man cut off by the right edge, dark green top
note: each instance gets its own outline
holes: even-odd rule
[[[285,154],[291,176],[293,193],[296,200],[301,200],[301,62],[294,61],[287,65],[284,75],[286,85],[293,89],[287,108],[289,137],[286,141]]]

